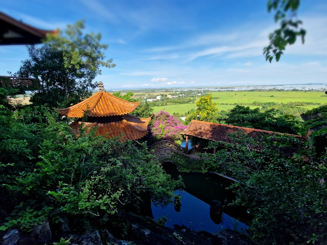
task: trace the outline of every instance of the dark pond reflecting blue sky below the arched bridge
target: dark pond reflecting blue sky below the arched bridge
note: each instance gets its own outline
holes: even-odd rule
[[[175,207],[173,203],[166,208],[151,205],[155,220],[165,216],[168,227],[184,225],[194,231],[204,230],[212,234],[226,228],[246,233],[248,226],[244,223],[250,220],[250,215],[244,208],[228,205],[235,197],[226,190],[232,183],[230,180],[216,174],[179,173],[173,164],[163,164],[163,167],[174,179],[181,175],[185,187],[174,191],[181,197],[180,206]],[[223,205],[219,214],[213,212],[217,203]]]

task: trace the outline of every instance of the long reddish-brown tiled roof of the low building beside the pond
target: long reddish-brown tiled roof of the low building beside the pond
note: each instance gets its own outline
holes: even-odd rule
[[[195,136],[202,139],[214,140],[214,141],[224,141],[230,143],[230,138],[228,134],[237,133],[241,130],[244,134],[256,138],[264,134],[282,134],[282,135],[290,135],[296,138],[301,138],[307,140],[307,137],[303,137],[300,135],[294,134],[283,134],[278,132],[272,132],[261,129],[250,129],[232,125],[225,124],[215,124],[214,122],[206,122],[206,121],[198,121],[192,120],[188,128],[186,128],[182,135]]]

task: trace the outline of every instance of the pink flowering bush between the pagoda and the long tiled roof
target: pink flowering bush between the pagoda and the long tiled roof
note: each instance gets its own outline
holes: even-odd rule
[[[149,130],[152,133],[152,137],[155,137],[158,141],[166,139],[180,144],[183,140],[180,133],[186,127],[188,126],[182,125],[182,121],[178,117],[166,111],[160,111],[154,116],[152,126],[149,127]]]

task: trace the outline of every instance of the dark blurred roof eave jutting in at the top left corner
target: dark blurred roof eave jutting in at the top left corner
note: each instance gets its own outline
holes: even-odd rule
[[[46,34],[56,30],[41,30],[0,12],[0,45],[29,45],[42,43]]]

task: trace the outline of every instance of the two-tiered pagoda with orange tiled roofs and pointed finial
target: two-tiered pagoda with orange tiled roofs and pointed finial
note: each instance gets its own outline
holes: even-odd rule
[[[98,135],[106,138],[118,137],[118,140],[136,140],[148,133],[151,117],[139,118],[128,113],[134,111],[139,102],[129,102],[116,97],[104,90],[103,83],[99,83],[99,91],[86,100],[64,109],[59,109],[60,115],[80,118],[87,116],[86,122],[76,120],[69,126],[76,133],[81,127],[98,127]]]

